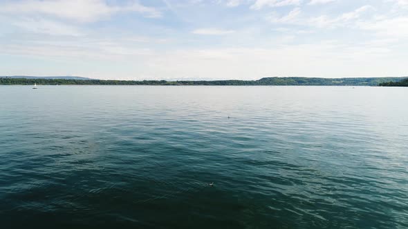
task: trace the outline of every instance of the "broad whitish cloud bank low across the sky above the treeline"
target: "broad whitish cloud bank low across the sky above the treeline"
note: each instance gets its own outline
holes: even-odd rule
[[[285,38],[290,39],[290,37]],[[340,41],[319,41],[308,44],[280,44],[273,48],[182,48],[149,50],[135,48],[131,43],[114,41],[78,41],[66,43],[34,43],[30,46],[0,46],[2,54],[31,56],[59,61],[64,65],[81,57],[91,70],[76,70],[84,77],[104,79],[206,78],[257,79],[270,76],[308,77],[380,77],[400,74],[405,59],[398,59],[380,41],[375,45],[345,45]],[[384,48],[385,47],[385,48]],[[120,62],[120,70],[109,63]],[[85,65],[84,65],[85,66]],[[42,66],[44,67],[44,66]],[[113,71],[98,69],[113,68]],[[46,68],[51,71],[50,68]],[[96,69],[96,70],[95,70]],[[35,74],[35,72],[32,72]],[[97,74],[98,73],[98,74]],[[60,74],[48,72],[47,74]]]

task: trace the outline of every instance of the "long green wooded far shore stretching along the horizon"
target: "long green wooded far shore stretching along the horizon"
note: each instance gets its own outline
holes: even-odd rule
[[[259,80],[216,80],[216,81],[165,81],[165,80],[102,80],[102,79],[25,79],[1,77],[0,85],[192,85],[192,86],[378,86],[389,81],[396,82],[407,77],[382,78],[307,78],[268,77]]]

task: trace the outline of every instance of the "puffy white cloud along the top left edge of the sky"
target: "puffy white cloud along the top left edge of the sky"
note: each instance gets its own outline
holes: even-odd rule
[[[0,4],[0,12],[10,14],[47,14],[80,22],[98,21],[120,12],[138,12],[145,17],[160,17],[160,11],[133,1],[125,6],[111,6],[103,0],[27,0]]]

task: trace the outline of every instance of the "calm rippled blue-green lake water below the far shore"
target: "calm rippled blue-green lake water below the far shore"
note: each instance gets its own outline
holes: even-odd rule
[[[408,228],[408,88],[31,88],[0,86],[1,228]]]

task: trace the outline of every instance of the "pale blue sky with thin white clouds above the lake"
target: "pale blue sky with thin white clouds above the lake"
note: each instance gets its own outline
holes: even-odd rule
[[[408,75],[408,0],[0,0],[0,75]]]

